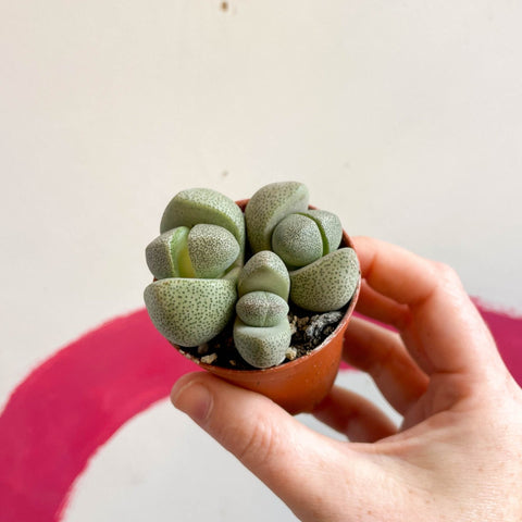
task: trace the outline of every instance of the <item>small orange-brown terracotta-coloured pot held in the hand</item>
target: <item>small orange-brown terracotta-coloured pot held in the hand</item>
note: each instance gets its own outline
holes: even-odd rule
[[[237,201],[237,204],[245,210],[247,202],[248,200],[241,200]],[[341,246],[353,248],[353,243],[344,231]],[[335,331],[309,355],[294,361],[263,370],[233,370],[206,364],[190,355],[183,353],[203,370],[269,397],[291,414],[310,412],[334,384],[343,352],[344,334],[356,307],[360,287],[359,278],[350,304]],[[176,348],[178,349],[177,346]]]

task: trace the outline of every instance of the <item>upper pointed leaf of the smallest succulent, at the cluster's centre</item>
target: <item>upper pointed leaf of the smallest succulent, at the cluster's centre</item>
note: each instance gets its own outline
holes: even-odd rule
[[[290,278],[283,260],[270,250],[263,250],[252,256],[237,279],[239,296],[249,291],[262,290],[277,294],[288,299]]]

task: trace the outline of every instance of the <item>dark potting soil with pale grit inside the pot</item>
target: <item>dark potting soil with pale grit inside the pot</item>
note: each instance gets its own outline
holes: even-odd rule
[[[347,307],[348,304],[340,310],[319,314],[291,307],[288,313],[293,332],[291,343],[282,364],[306,356],[321,345],[337,327]],[[221,334],[206,345],[183,348],[179,351],[207,364],[234,370],[259,370],[248,364],[234,346],[233,323],[228,324]]]

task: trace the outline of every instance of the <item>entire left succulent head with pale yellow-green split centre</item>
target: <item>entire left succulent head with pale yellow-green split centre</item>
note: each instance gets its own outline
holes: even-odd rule
[[[228,323],[245,252],[245,220],[237,204],[207,188],[177,194],[146,249],[158,279],[145,289],[152,323],[179,346],[198,346]]]

